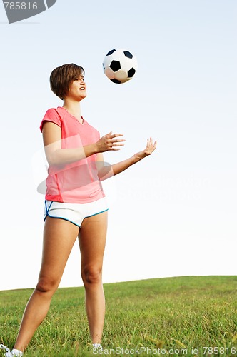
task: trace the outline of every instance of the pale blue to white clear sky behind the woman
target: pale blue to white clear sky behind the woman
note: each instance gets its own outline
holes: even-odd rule
[[[0,290],[36,285],[46,176],[39,124],[61,106],[56,66],[86,70],[86,121],[122,132],[112,164],[158,140],[155,153],[104,181],[109,231],[104,282],[236,275],[236,0],[63,1],[8,24],[0,4]],[[125,48],[136,76],[113,84],[102,61]],[[61,286],[81,286],[76,243]]]

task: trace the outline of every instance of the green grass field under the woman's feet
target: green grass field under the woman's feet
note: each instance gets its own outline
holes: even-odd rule
[[[0,291],[0,343],[14,345],[31,291]],[[113,283],[105,284],[104,291],[103,356],[116,347],[117,354],[109,356],[237,356],[237,276]],[[140,353],[148,349],[132,354],[135,348]],[[84,288],[56,292],[25,356],[93,356]]]

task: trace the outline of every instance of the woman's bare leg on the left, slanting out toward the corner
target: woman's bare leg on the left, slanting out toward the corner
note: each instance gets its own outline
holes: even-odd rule
[[[73,223],[49,216],[46,218],[39,282],[26,305],[14,348],[24,351],[44,320],[78,233],[79,227]]]

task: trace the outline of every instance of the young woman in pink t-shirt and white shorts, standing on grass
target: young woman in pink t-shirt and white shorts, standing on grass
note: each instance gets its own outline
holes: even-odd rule
[[[91,342],[101,348],[105,300],[102,264],[106,243],[106,198],[101,180],[128,169],[156,149],[147,140],[146,149],[111,166],[104,165],[103,152],[124,144],[123,134],[99,132],[81,116],[86,98],[84,69],[64,64],[50,76],[51,89],[64,101],[62,107],[46,111],[43,133],[49,175],[46,179],[44,244],[39,281],[26,305],[14,349],[5,356],[23,356],[36,328],[49,310],[76,238],[81,250],[81,276],[86,291],[86,313]]]

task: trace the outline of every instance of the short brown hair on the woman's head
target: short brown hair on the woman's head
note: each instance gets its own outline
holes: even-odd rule
[[[64,99],[64,96],[69,93],[69,85],[71,82],[84,76],[84,74],[84,69],[77,64],[63,64],[60,67],[56,67],[50,75],[51,90],[56,96]]]

